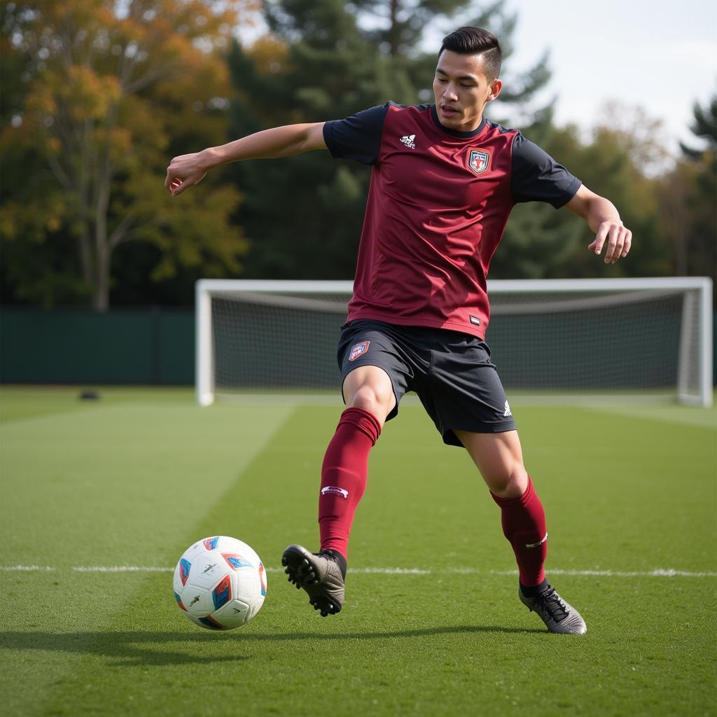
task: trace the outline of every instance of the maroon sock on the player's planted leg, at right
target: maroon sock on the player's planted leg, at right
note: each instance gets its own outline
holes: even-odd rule
[[[545,580],[543,565],[548,556],[548,531],[543,504],[533,488],[533,481],[528,477],[528,488],[519,498],[490,495],[500,505],[503,535],[516,554],[521,585],[540,585]]]

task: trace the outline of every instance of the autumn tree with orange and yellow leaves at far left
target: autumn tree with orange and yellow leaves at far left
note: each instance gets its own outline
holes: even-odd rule
[[[0,237],[4,278],[20,299],[52,304],[89,295],[105,310],[113,253],[130,241],[161,248],[156,280],[180,265],[239,270],[244,243],[228,225],[237,191],[170,204],[161,185],[172,151],[216,143],[224,133],[227,70],[218,53],[251,7],[249,0],[4,4],[6,75],[17,72],[19,81],[2,88],[9,122],[0,133]]]

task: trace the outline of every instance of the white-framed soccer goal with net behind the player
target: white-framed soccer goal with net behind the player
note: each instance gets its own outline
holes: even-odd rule
[[[201,280],[196,396],[337,389],[346,281]],[[486,340],[509,391],[673,394],[712,404],[703,277],[488,282]]]

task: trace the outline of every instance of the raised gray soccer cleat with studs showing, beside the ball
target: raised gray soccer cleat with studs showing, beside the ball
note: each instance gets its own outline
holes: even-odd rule
[[[281,564],[289,582],[303,588],[321,617],[341,612],[343,606],[343,575],[333,557],[310,553],[300,545],[290,545],[282,555]]]

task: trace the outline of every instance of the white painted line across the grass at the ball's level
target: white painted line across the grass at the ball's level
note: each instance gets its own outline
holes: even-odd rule
[[[52,572],[57,570],[46,565],[0,565],[2,572]],[[171,573],[173,568],[151,567],[143,565],[79,565],[70,568],[76,573]],[[281,573],[282,568],[267,568],[269,573]],[[364,575],[517,575],[517,570],[480,570],[478,568],[349,568],[352,574]],[[675,570],[674,568],[655,568],[648,571],[624,571],[624,570],[561,570],[549,569],[551,575],[571,575],[587,577],[607,578],[714,578],[717,572],[703,571],[690,572],[687,570]]]

